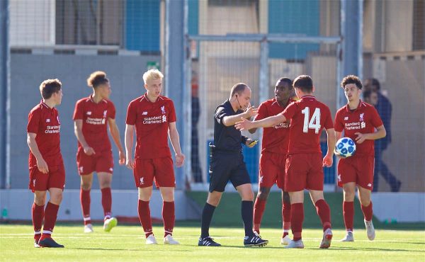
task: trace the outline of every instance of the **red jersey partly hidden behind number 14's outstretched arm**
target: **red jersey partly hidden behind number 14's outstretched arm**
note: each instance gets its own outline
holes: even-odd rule
[[[292,102],[294,101],[290,99],[288,105]],[[276,98],[269,99],[268,101],[261,103],[259,106],[259,113],[257,113],[254,120],[261,120],[272,115],[277,115],[284,109],[285,107],[280,106],[278,101],[276,101]],[[280,123],[273,127],[265,127],[263,129],[261,152],[271,152],[277,154],[288,153],[289,127],[289,120],[287,120],[285,123]]]

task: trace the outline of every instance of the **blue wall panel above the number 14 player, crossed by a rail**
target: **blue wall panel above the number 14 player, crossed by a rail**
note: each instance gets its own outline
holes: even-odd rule
[[[268,33],[319,36],[319,0],[269,0]],[[317,44],[271,43],[269,57],[305,59]]]

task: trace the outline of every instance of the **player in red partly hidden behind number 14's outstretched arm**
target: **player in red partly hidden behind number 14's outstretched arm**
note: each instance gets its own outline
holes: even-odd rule
[[[259,113],[254,118],[261,120],[282,112],[290,103],[293,92],[292,80],[282,77],[276,83],[275,98],[261,103]],[[288,153],[289,143],[289,121],[280,123],[273,127],[266,127],[263,130],[263,141],[261,143],[260,173],[259,173],[259,193],[256,195],[254,204],[254,232],[260,234],[261,218],[266,207],[268,193],[274,183],[282,189],[282,220],[283,236],[280,244],[289,244],[288,232],[290,229],[290,199],[288,192],[285,192],[285,163]],[[256,128],[249,130],[251,134]]]

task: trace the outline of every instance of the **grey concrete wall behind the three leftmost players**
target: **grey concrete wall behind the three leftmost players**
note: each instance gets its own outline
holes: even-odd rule
[[[116,122],[124,147],[125,115],[128,103],[145,93],[142,74],[147,62],[159,62],[157,55],[140,55],[140,52],[108,52],[98,55],[98,50],[12,50],[11,53],[11,132],[8,167],[11,188],[28,188],[28,145],[26,125],[29,111],[40,103],[40,83],[45,79],[60,79],[64,98],[58,106],[61,120],[61,148],[66,169],[66,188],[79,188],[76,153],[77,138],[74,135],[72,114],[75,102],[89,96],[92,89],[86,78],[96,70],[105,71],[111,81],[111,100],[115,103]],[[102,52],[100,52],[102,53]],[[113,140],[111,139],[113,144]],[[115,169],[113,189],[133,189],[132,172],[118,165],[118,151],[113,144]],[[98,188],[95,178],[93,188]]]

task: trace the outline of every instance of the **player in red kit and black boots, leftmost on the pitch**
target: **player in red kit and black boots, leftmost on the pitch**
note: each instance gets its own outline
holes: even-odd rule
[[[40,93],[42,101],[30,111],[27,126],[29,188],[34,193],[34,246],[64,247],[52,239],[65,186],[64,161],[60,152],[60,120],[55,108],[62,102],[62,83],[58,79],[42,81]],[[45,208],[47,190],[50,200]]]

